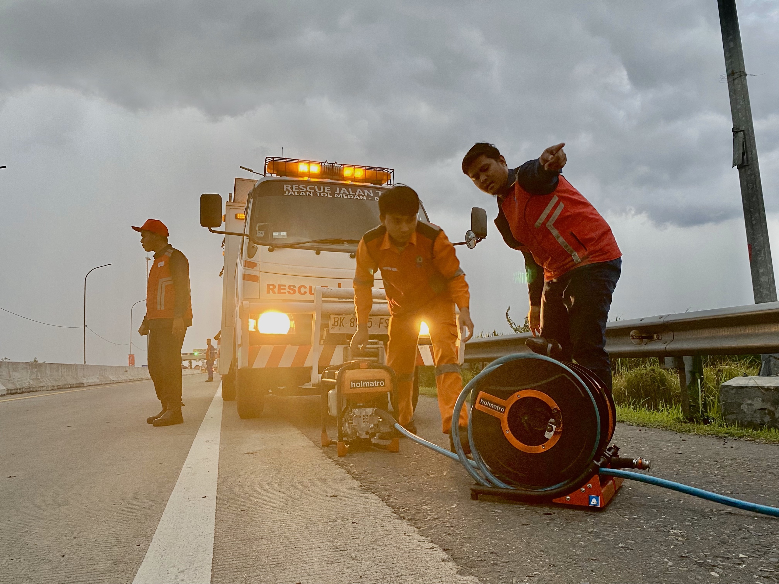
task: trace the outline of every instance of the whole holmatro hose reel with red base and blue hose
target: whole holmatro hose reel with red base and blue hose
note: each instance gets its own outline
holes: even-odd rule
[[[740,501],[686,484],[624,469],[648,470],[640,457],[623,458],[608,446],[616,426],[612,393],[587,368],[537,354],[501,357],[469,382],[454,405],[453,420],[471,406],[468,442],[473,459],[452,427],[456,454],[407,438],[458,460],[476,484],[471,498],[492,495],[526,502],[605,508],[625,479],[691,494],[722,505],[779,517],[779,508]]]

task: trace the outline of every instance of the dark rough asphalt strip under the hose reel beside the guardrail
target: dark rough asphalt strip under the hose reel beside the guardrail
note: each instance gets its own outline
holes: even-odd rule
[[[315,409],[277,410],[319,442]],[[435,399],[420,396],[415,417],[448,447]],[[657,477],[779,506],[779,445],[625,424],[612,443]],[[779,582],[779,519],[631,481],[603,511],[471,501],[459,463],[409,440],[398,454],[326,451],[481,582]]]

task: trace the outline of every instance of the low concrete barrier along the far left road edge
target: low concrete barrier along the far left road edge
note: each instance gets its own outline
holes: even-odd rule
[[[194,369],[184,371],[185,375],[190,373],[200,373],[200,371]],[[149,370],[145,367],[0,361],[0,396],[106,383],[134,382],[148,378]]]

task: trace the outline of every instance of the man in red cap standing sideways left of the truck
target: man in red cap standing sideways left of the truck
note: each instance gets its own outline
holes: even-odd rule
[[[143,249],[154,252],[146,284],[146,316],[138,332],[149,335],[149,375],[162,411],[146,422],[154,426],[183,424],[182,344],[187,327],[192,326],[189,262],[167,243],[167,227],[162,221],[149,219],[132,228],[140,232]]]

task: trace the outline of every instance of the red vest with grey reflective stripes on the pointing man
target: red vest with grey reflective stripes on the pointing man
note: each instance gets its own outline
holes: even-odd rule
[[[548,195],[531,195],[514,183],[501,209],[516,241],[521,241],[555,280],[579,266],[622,256],[612,228],[566,178]]]

